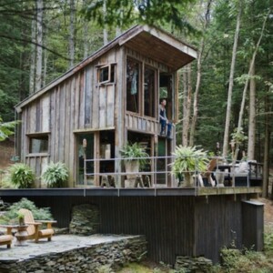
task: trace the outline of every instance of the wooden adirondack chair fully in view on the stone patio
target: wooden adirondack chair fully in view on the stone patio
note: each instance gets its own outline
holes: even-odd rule
[[[56,221],[50,220],[35,221],[32,212],[25,208],[21,208],[19,212],[25,215],[25,225],[28,225],[28,227],[26,228],[26,231],[28,233],[28,239],[35,239],[36,243],[41,238],[47,238],[48,241],[51,241],[51,238],[54,234],[52,224],[56,223]],[[45,229],[40,229],[40,226],[44,223],[46,224],[47,227]]]

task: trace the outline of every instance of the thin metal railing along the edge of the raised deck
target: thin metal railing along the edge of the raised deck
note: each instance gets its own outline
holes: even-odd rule
[[[176,157],[143,157],[141,159],[146,159],[147,164],[138,171],[126,170],[125,158],[86,159],[83,186],[185,187],[186,172],[176,175],[171,170],[171,164]],[[210,162],[215,160],[215,167],[209,168],[208,164],[205,172],[197,168],[193,170],[190,187],[262,186],[262,164],[253,161],[231,163],[220,157],[208,159]],[[242,167],[243,164],[244,167]]]

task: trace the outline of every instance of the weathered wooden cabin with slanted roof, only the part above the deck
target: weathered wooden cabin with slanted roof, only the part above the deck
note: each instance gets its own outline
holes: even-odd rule
[[[120,157],[119,149],[127,142],[142,143],[150,156],[170,155],[176,127],[172,140],[158,136],[159,99],[167,99],[167,117],[175,125],[177,70],[196,57],[193,47],[165,31],[132,27],[15,106],[22,120],[18,156],[37,177],[50,161],[65,162],[68,186],[86,187],[99,186],[100,181],[85,179],[84,157],[95,159],[87,163],[88,173],[119,173],[120,162],[96,159]],[[160,166],[167,168],[167,160]],[[148,170],[154,168],[151,164]],[[167,186],[170,181],[166,176],[157,183]]]

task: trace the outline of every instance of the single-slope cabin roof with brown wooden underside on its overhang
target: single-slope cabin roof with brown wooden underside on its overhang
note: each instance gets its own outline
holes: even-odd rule
[[[144,56],[155,59],[159,63],[169,66],[173,70],[186,66],[197,57],[196,49],[183,43],[164,30],[148,25],[136,25],[122,35],[117,36],[107,45],[101,47],[91,56],[88,56],[85,60],[68,70],[64,75],[56,78],[56,80],[35,92],[32,96],[25,98],[25,100],[15,106],[16,111],[21,112],[22,107],[34,101],[37,97],[45,94],[49,89],[66,80],[67,77],[72,76],[83,67],[94,62],[98,57],[104,55],[115,46],[122,45],[126,45],[127,47],[140,52]]]

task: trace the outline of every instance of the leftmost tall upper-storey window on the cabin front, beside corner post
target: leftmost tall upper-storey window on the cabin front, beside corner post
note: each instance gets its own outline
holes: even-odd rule
[[[139,113],[139,71],[140,65],[135,60],[126,62],[126,110]]]

